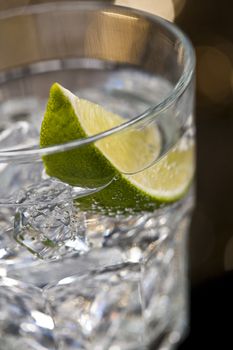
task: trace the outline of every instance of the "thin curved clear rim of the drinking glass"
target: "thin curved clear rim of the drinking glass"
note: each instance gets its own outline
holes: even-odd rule
[[[94,6],[94,7],[93,7]],[[169,94],[162,99],[159,103],[152,105],[147,108],[144,112],[139,115],[133,117],[132,119],[127,120],[126,122],[115,126],[111,129],[108,129],[104,132],[95,134],[93,136],[89,136],[82,139],[77,139],[74,141],[70,141],[63,144],[56,144],[43,148],[36,149],[19,149],[19,150],[2,150],[0,149],[0,162],[7,162],[13,160],[23,160],[27,157],[27,162],[29,160],[38,160],[41,159],[42,156],[60,153],[64,151],[69,151],[74,148],[85,146],[91,143],[94,143],[102,138],[108,137],[112,134],[121,132],[127,128],[130,128],[138,123],[145,121],[151,117],[154,120],[158,117],[158,115],[168,109],[182,93],[185,91],[187,86],[189,85],[194,69],[195,69],[195,54],[193,46],[181,29],[179,29],[174,23],[167,21],[166,19],[156,16],[154,14],[126,7],[114,5],[112,3],[104,2],[104,1],[62,1],[62,2],[52,2],[52,3],[42,3],[42,4],[29,4],[21,7],[16,7],[13,9],[7,9],[0,12],[0,21],[3,19],[8,19],[16,16],[27,15],[27,14],[37,14],[37,13],[46,13],[51,12],[52,10],[62,11],[69,9],[79,8],[82,10],[96,10],[96,9],[114,9],[117,8],[127,10],[130,14],[143,16],[145,19],[148,19],[152,22],[157,22],[159,25],[166,28],[169,32],[173,33],[175,37],[177,37],[184,48],[184,69],[181,77],[177,81],[176,85],[172,88]]]

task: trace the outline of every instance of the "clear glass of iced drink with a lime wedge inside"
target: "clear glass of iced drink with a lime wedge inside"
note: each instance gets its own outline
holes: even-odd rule
[[[187,329],[194,55],[172,24],[0,14],[0,349],[173,349]]]

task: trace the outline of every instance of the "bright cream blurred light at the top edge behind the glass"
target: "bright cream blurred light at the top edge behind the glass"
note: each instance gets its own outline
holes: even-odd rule
[[[115,0],[115,4],[147,11],[168,21],[174,21],[175,18],[172,0]]]

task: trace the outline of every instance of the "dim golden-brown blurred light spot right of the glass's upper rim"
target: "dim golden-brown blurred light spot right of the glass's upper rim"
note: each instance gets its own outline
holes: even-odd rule
[[[212,102],[225,102],[232,93],[230,57],[214,46],[199,46],[196,53],[198,92]]]

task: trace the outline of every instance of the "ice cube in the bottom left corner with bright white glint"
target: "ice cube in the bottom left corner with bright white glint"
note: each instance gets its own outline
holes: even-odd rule
[[[42,290],[0,278],[0,349],[55,350],[53,331]]]

